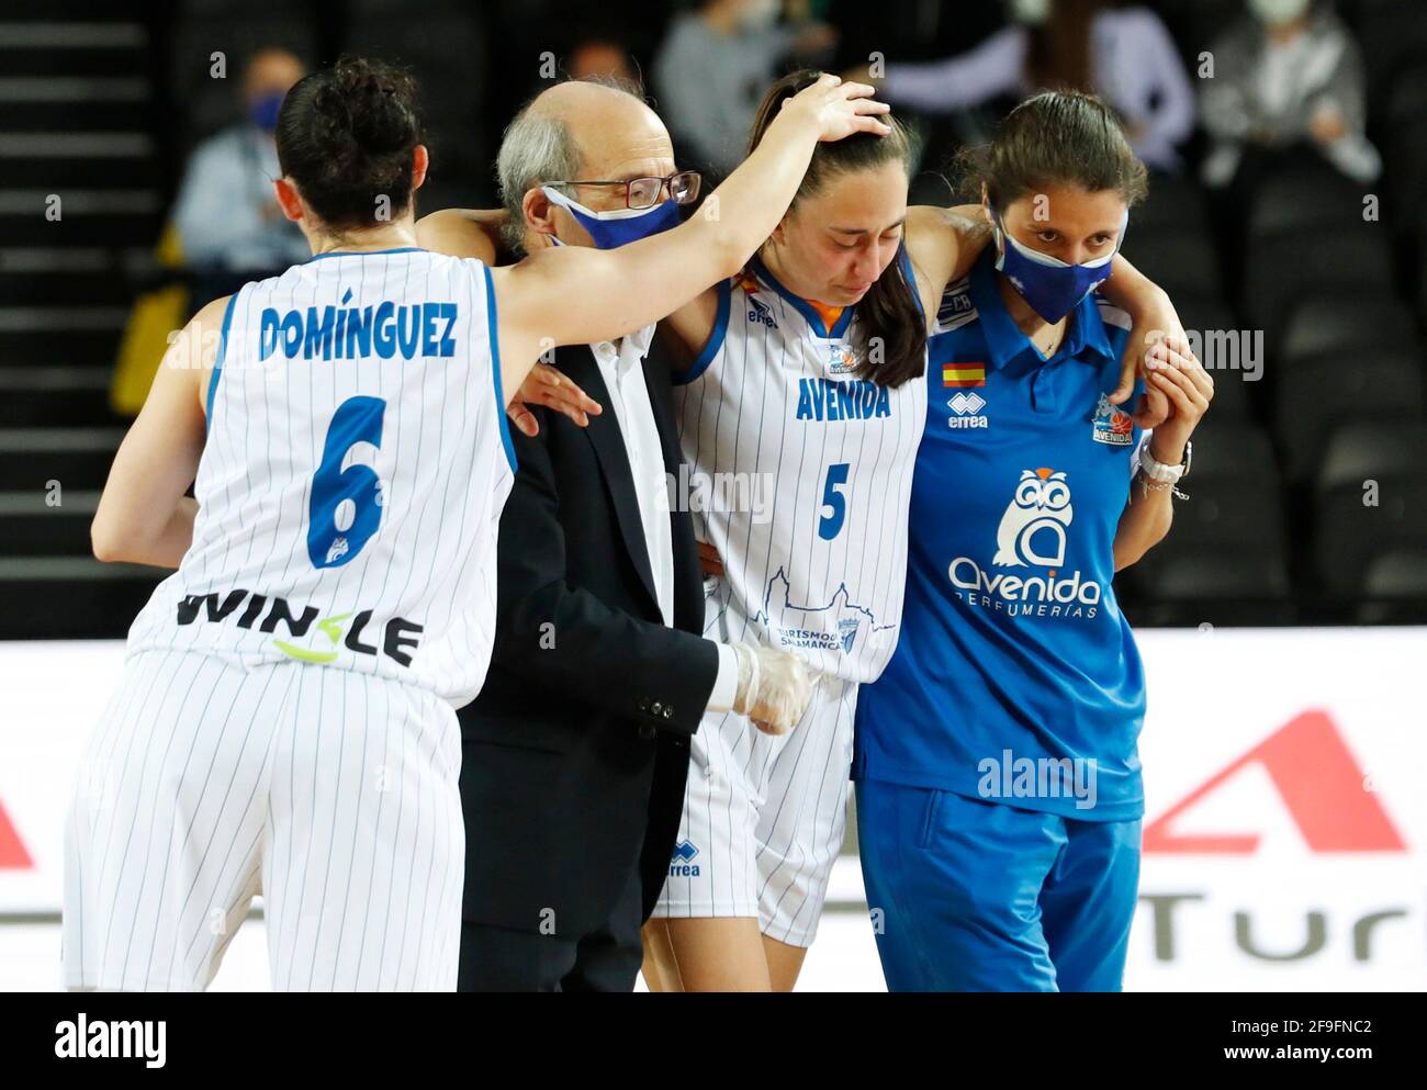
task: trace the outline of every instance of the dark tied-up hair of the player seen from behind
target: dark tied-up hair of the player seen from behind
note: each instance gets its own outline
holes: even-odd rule
[[[278,164],[328,227],[377,227],[411,204],[421,143],[415,100],[410,73],[362,57],[344,57],[287,93],[277,117]]]

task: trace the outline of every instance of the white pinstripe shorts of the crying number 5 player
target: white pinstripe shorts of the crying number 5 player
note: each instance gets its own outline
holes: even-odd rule
[[[856,693],[821,676],[786,735],[704,716],[655,917],[755,916],[763,934],[812,946],[846,826]]]

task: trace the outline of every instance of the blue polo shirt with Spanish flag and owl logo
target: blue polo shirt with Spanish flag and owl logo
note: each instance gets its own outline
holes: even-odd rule
[[[1092,295],[1043,360],[996,277],[987,248],[938,314],[902,633],[858,695],[853,779],[1136,819],[1144,675],[1112,579],[1140,431],[1106,399],[1129,321]]]

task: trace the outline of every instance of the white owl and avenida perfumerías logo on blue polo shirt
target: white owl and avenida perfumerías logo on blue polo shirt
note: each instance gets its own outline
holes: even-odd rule
[[[1067,532],[1075,519],[1070,481],[1042,467],[1022,469],[1006,512],[996,528],[992,568],[1033,568],[1033,574],[987,571],[972,556],[958,556],[948,574],[966,605],[1009,616],[1092,618],[1100,605],[1100,584],[1079,569],[1063,571]]]

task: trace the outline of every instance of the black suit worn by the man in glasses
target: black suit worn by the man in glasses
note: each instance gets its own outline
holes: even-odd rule
[[[645,375],[676,475],[662,355],[654,345]],[[589,348],[558,350],[555,365],[609,404]],[[501,516],[491,671],[459,712],[458,987],[629,990],[719,652],[698,635],[702,575],[681,512],[671,515],[675,626],[664,625],[615,415],[581,428],[535,412],[539,435],[512,435],[519,471]]]

